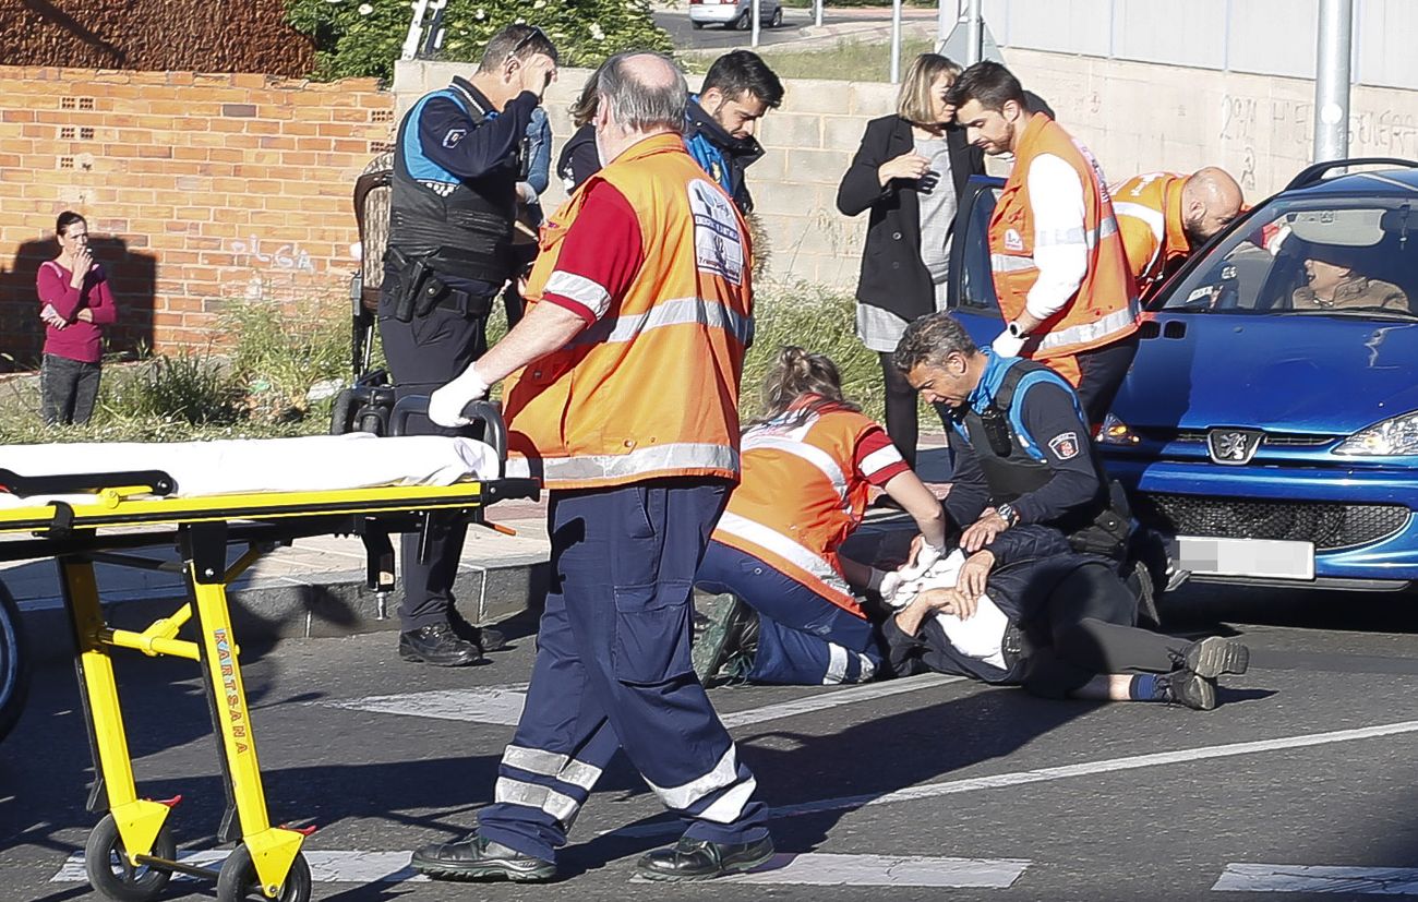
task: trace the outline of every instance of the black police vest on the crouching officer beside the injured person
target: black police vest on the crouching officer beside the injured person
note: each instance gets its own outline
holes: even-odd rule
[[[984,471],[986,482],[990,485],[990,498],[994,503],[1014,501],[1021,495],[1028,495],[1041,488],[1052,478],[1052,471],[1046,461],[1035,460],[1025,451],[1020,434],[1010,423],[1010,407],[1014,403],[1014,393],[1020,382],[1029,373],[1046,370],[1048,367],[1034,360],[1018,360],[1011,364],[1000,382],[1000,389],[986,411],[977,413],[970,404],[964,406],[964,413],[957,414],[964,427],[966,440],[974,450]],[[1081,447],[1086,448],[1088,434],[1079,435]],[[1069,536],[1071,543],[1078,550],[1093,553],[1112,553],[1115,542],[1126,538],[1130,526],[1124,525],[1130,518],[1127,502],[1122,498],[1115,503],[1110,498],[1107,475],[1096,454],[1088,450],[1093,471],[1098,474],[1098,495],[1092,503],[1069,511],[1059,520],[1048,523]],[[1120,511],[1116,508],[1122,508]],[[1119,520],[1123,520],[1122,523]],[[1096,528],[1105,530],[1105,536],[1093,535]],[[1122,530],[1122,538],[1116,533]]]

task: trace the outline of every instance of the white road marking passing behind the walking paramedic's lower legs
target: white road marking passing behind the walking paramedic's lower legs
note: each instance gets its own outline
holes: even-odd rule
[[[903,692],[929,689],[951,682],[960,682],[963,676],[943,676],[940,674],[923,674],[906,679],[891,679],[873,682],[849,689],[834,692],[813,692],[788,702],[777,702],[761,708],[736,711],[720,715],[723,725],[729,729],[750,726],[766,720],[778,720],[801,713],[825,711],[838,705],[854,702],[868,702]],[[370,695],[354,699],[311,702],[322,708],[343,708],[346,711],[370,711],[374,713],[407,715],[413,718],[431,718],[435,720],[472,720],[476,723],[498,723],[516,726],[522,716],[522,705],[526,702],[527,684],[510,684],[501,686],[485,686],[479,689],[437,689],[431,692],[404,692],[400,695]]]

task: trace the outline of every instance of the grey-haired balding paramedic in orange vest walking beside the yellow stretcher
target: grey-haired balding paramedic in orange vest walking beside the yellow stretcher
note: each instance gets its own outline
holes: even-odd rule
[[[753,330],[749,231],[685,150],[685,77],[658,54],[597,81],[605,167],[543,226],[526,316],[431,397],[458,424],[502,379],[508,475],[549,489],[552,589],[526,705],[469,837],[427,845],[440,879],[547,881],[618,749],[686,824],[641,876],[703,879],[773,855],[767,807],[695,678],[692,591],[739,478]]]

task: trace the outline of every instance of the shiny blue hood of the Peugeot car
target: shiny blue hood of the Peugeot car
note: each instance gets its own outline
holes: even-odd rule
[[[1347,434],[1418,410],[1418,323],[1157,313],[1113,404],[1133,427]],[[1150,330],[1150,329],[1149,329]]]

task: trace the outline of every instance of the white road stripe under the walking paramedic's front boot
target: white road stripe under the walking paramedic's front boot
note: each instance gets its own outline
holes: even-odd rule
[[[1018,858],[923,858],[919,855],[774,855],[749,874],[716,884],[791,884],[795,886],[939,886],[1008,889],[1029,861]],[[637,876],[632,884],[652,884]]]

